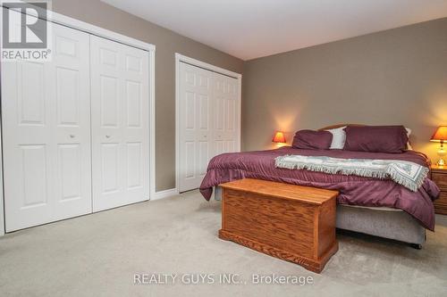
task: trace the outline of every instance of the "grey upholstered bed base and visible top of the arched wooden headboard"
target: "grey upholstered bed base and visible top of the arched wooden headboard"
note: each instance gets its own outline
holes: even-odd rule
[[[319,130],[341,128],[344,126],[365,126],[361,124],[338,124]],[[215,199],[220,200],[220,186],[215,187]],[[410,243],[413,248],[421,249],[426,242],[426,228],[407,212],[387,207],[361,207],[352,205],[337,206],[336,227],[367,235]]]

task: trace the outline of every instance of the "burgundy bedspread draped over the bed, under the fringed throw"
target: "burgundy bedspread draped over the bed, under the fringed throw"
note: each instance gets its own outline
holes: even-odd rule
[[[315,186],[340,191],[337,202],[342,204],[404,210],[416,218],[422,226],[434,231],[433,200],[439,195],[439,189],[429,178],[426,178],[424,185],[415,193],[388,179],[275,168],[274,158],[285,154],[345,159],[403,160],[413,161],[427,167],[430,164],[423,153],[412,151],[406,153],[364,153],[342,150],[299,150],[285,146],[270,151],[223,153],[215,156],[209,162],[207,175],[200,186],[200,193],[209,200],[213,194],[213,186],[246,177],[300,186]]]

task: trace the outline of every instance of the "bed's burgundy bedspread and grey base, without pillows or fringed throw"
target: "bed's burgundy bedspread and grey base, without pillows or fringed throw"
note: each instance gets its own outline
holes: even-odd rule
[[[244,177],[334,189],[340,191],[337,197],[338,228],[410,243],[415,248],[421,248],[425,243],[426,229],[434,231],[433,200],[439,195],[439,189],[429,175],[417,192],[412,192],[389,179],[276,168],[274,159],[287,154],[402,160],[430,168],[426,155],[414,151],[364,153],[284,146],[275,150],[216,156],[209,162],[200,192],[209,200],[214,190],[215,199],[220,199],[220,184]]]

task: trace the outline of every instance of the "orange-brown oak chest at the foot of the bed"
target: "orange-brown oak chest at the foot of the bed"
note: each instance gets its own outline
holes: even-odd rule
[[[337,252],[338,192],[249,178],[221,186],[220,238],[317,273]]]

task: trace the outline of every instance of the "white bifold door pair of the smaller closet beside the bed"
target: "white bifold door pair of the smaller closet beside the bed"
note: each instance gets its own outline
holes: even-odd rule
[[[208,162],[239,150],[239,81],[188,63],[179,73],[179,191],[200,186]]]

